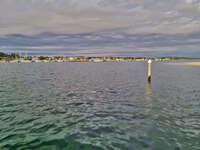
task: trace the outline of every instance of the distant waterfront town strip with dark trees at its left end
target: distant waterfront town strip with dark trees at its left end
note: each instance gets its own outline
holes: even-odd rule
[[[107,62],[107,61],[170,61],[170,60],[194,60],[200,58],[187,57],[89,57],[89,56],[20,56],[16,53],[6,54],[0,52],[0,62],[23,63],[23,62]]]

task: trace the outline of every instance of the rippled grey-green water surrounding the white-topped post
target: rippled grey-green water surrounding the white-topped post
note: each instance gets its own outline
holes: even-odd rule
[[[200,150],[200,67],[0,64],[1,150]]]

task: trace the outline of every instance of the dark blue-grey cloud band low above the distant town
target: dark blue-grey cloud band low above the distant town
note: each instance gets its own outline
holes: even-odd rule
[[[87,34],[20,34],[0,38],[0,49],[40,55],[121,55],[200,57],[200,34],[127,34],[118,30]]]

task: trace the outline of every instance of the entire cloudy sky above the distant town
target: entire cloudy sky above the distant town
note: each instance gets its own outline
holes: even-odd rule
[[[0,0],[0,51],[200,57],[200,0]]]

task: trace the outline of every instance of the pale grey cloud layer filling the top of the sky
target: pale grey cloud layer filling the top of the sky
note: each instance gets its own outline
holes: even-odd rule
[[[1,0],[0,34],[200,31],[199,0]]]

